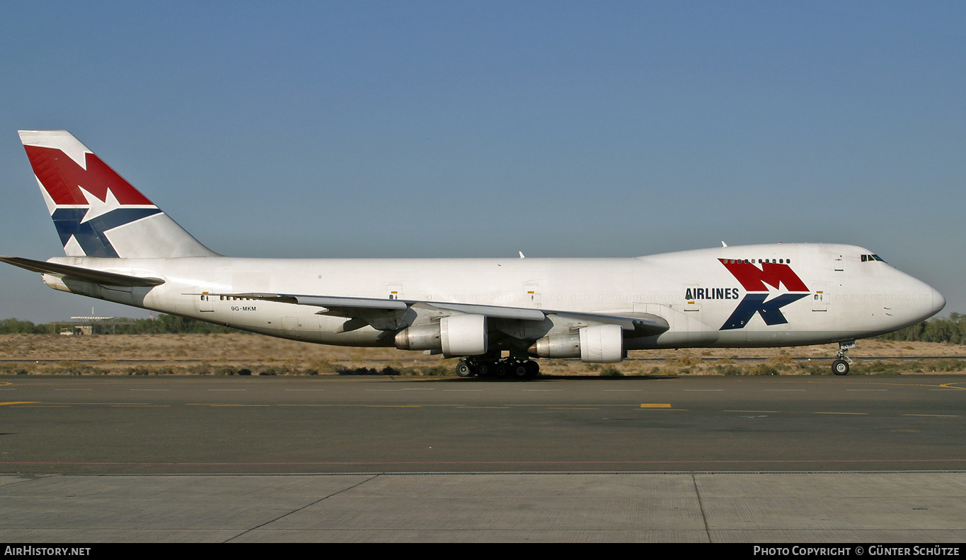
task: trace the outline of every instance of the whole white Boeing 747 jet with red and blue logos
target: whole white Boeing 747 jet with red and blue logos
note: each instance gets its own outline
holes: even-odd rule
[[[245,259],[191,237],[65,130],[21,130],[67,253],[0,261],[55,290],[319,344],[459,357],[462,377],[533,358],[839,343],[921,322],[942,294],[863,247],[722,246],[627,259]]]

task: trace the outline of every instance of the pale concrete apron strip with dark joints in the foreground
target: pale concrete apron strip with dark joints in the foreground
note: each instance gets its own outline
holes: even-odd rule
[[[0,540],[961,548],[964,482],[955,473],[6,475]]]

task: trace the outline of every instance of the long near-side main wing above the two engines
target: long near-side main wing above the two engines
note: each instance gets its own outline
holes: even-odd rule
[[[477,305],[473,303],[450,303],[443,301],[418,301],[405,299],[381,299],[375,297],[338,297],[330,295],[307,294],[212,294],[239,299],[258,299],[278,301],[296,305],[311,305],[322,308],[318,315],[345,317],[356,323],[369,323],[376,328],[390,330],[404,328],[409,324],[406,318],[415,317],[420,312],[435,316],[472,314],[483,315],[488,319],[543,322],[550,318],[579,324],[616,324],[625,334],[632,336],[651,336],[668,330],[668,322],[657,315],[633,313],[627,315],[606,315],[596,313],[574,313],[524,307],[501,307],[497,305]],[[414,312],[414,313],[413,313]],[[556,322],[556,321],[554,321]],[[361,324],[358,324],[361,326]]]

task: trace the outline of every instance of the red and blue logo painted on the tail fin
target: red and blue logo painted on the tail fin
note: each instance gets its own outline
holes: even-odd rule
[[[107,232],[161,211],[95,154],[81,163],[56,148],[23,148],[69,255],[117,258]]]

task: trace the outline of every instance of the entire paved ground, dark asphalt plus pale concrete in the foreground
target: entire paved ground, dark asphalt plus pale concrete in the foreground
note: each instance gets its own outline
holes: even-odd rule
[[[966,538],[963,376],[0,383],[7,542]]]

